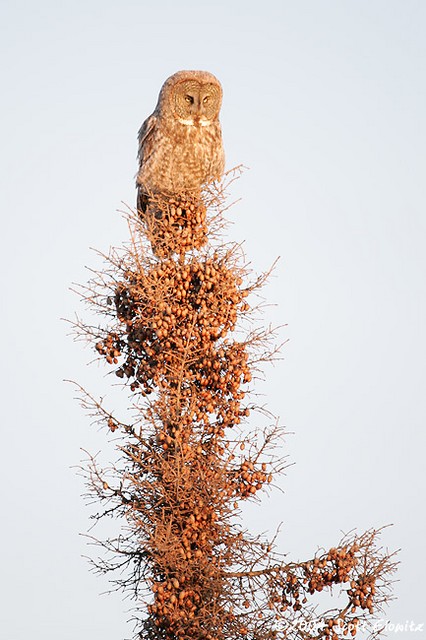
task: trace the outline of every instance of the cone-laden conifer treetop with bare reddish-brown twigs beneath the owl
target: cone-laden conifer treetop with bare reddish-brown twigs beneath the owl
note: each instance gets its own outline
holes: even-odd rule
[[[124,420],[80,389],[118,443],[111,467],[95,456],[83,467],[95,520],[122,523],[93,563],[134,598],[136,638],[355,636],[391,597],[396,563],[381,530],[289,561],[275,537],[242,526],[240,505],[259,502],[285,456],[283,429],[253,395],[254,374],[277,353],[257,313],[268,274],[253,278],[241,246],[223,239],[226,179],[191,198],[157,197],[155,215],[129,211],[128,243],[80,289],[99,324],[78,320],[76,332],[132,407]],[[331,590],[323,610],[319,594]]]

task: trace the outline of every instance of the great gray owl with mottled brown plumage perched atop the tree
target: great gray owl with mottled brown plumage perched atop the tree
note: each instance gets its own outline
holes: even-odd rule
[[[222,87],[207,71],[178,71],[163,84],[157,106],[139,130],[137,207],[149,196],[197,193],[223,174],[219,111]]]

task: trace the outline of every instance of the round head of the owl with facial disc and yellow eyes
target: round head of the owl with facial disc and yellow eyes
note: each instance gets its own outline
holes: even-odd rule
[[[218,119],[222,87],[208,71],[178,71],[160,92],[157,109],[183,125],[208,126]]]

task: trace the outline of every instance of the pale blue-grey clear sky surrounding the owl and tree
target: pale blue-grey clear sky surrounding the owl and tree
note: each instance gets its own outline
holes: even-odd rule
[[[295,464],[246,523],[282,521],[291,559],[393,523],[386,618],[426,626],[426,3],[3,0],[0,25],[1,640],[131,637],[82,557],[72,466],[105,433],[63,379],[110,381],[61,318],[89,247],[126,237],[137,130],[179,69],[221,80],[227,166],[249,167],[230,236],[256,272],[281,256],[265,324],[289,342],[261,390]]]

